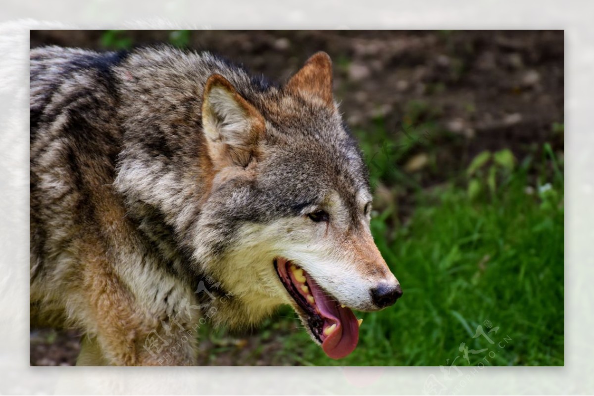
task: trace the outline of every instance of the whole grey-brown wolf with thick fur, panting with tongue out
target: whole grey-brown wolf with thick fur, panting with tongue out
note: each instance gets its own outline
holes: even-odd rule
[[[77,365],[194,365],[201,325],[282,304],[333,359],[402,295],[316,53],[285,84],[168,46],[30,51],[31,326]]]

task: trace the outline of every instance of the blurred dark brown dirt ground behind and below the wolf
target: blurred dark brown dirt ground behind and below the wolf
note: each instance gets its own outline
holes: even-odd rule
[[[134,45],[167,42],[169,36],[170,31],[118,34]],[[31,31],[30,46],[106,49],[102,37],[97,30]],[[419,162],[422,153],[415,151],[395,165],[407,168],[424,188],[444,183],[485,149],[508,148],[519,159],[542,155],[545,142],[555,152],[564,150],[564,135],[554,127],[564,123],[563,31],[201,30],[190,34],[188,47],[217,53],[279,82],[308,56],[326,51],[334,62],[334,92],[356,131],[372,131],[380,123],[394,138],[413,104],[422,103],[421,110],[413,110],[438,130],[431,136],[434,166]],[[399,191],[400,214],[406,216],[411,194]],[[74,363],[77,341],[74,330],[32,329],[31,365]],[[257,336],[231,340],[235,346],[230,347],[225,342],[220,361],[202,363],[254,364],[241,356],[252,359],[255,350],[270,356],[261,350],[282,347],[277,337],[264,345]],[[203,346],[208,347],[220,346]],[[256,359],[255,364],[289,363]]]

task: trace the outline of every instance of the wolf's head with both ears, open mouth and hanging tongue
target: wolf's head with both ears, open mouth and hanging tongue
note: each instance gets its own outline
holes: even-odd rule
[[[208,78],[202,124],[213,178],[194,257],[256,322],[290,304],[328,356],[348,355],[360,322],[402,295],[369,231],[371,193],[332,94],[331,60],[312,56],[286,85],[249,95]]]

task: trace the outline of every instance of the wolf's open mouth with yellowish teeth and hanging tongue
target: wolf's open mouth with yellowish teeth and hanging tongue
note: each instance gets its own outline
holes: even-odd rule
[[[274,267],[287,292],[301,308],[302,312],[298,313],[326,355],[340,359],[353,352],[359,341],[362,320],[357,320],[353,311],[328,295],[292,261],[277,258]]]

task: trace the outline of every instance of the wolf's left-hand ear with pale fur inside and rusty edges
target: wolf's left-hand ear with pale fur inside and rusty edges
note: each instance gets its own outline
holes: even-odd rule
[[[208,153],[217,167],[247,167],[264,135],[264,117],[222,75],[208,78],[202,98]]]

